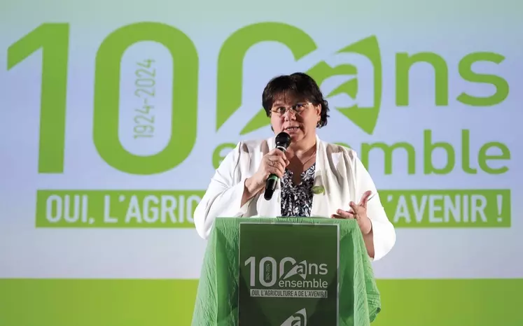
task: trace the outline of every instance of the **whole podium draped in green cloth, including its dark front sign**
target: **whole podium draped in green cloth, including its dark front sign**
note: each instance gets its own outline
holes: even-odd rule
[[[193,326],[365,326],[381,310],[356,220],[217,218]]]

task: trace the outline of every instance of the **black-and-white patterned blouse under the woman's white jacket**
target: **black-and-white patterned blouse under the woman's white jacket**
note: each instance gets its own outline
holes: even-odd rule
[[[299,185],[293,183],[293,173],[285,170],[281,178],[281,216],[308,218],[312,208],[312,187],[316,163],[302,172]]]

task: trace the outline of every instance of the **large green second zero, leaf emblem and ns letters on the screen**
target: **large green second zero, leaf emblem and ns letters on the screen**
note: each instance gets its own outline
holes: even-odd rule
[[[216,102],[216,131],[242,105],[243,65],[246,52],[260,42],[277,42],[285,45],[291,51],[296,61],[309,55],[317,49],[314,40],[305,31],[279,22],[262,22],[252,24],[233,33],[226,41],[218,57],[218,88]],[[383,69],[382,54],[376,36],[363,38],[356,43],[341,48],[336,54],[356,54],[367,58],[372,65],[373,96],[372,106],[360,106],[357,103],[350,107],[337,107],[354,124],[367,134],[372,134],[377,125],[379,111],[382,106]],[[396,106],[410,105],[410,73],[414,66],[428,64],[433,68],[434,104],[449,105],[449,66],[445,59],[434,52],[396,53],[395,58]],[[487,73],[477,73],[472,66],[477,62],[501,64],[503,55],[494,52],[473,52],[463,57],[458,64],[457,73],[469,83],[489,84],[496,92],[486,97],[474,96],[461,92],[456,101],[467,106],[494,106],[508,97],[508,83],[500,76]],[[330,66],[324,61],[312,66],[306,71],[321,86],[328,78],[334,76],[351,77],[345,83],[327,94],[327,98],[338,94],[347,94],[356,101],[359,91],[358,76],[368,71],[358,71],[353,64]],[[426,79],[424,79],[425,81]],[[270,125],[263,108],[247,122],[240,134],[249,134],[256,129]]]

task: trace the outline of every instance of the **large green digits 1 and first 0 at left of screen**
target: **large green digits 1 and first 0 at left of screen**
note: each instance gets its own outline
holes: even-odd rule
[[[127,48],[155,41],[173,60],[171,139],[148,157],[127,152],[118,138],[120,61]],[[8,69],[42,49],[39,172],[64,171],[69,24],[41,24],[8,48]],[[109,34],[96,55],[93,141],[99,155],[127,173],[151,174],[172,169],[188,157],[197,132],[198,57],[182,31],[167,24],[141,22]]]

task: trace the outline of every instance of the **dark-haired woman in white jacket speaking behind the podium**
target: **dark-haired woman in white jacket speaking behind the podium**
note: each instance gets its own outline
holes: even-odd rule
[[[316,128],[327,124],[328,103],[305,73],[270,80],[262,96],[274,134],[286,132],[286,152],[274,137],[241,141],[220,164],[194,221],[207,239],[216,217],[299,216],[356,219],[371,260],[384,257],[396,232],[368,171],[354,150],[321,141]],[[270,173],[279,183],[263,197]]]

